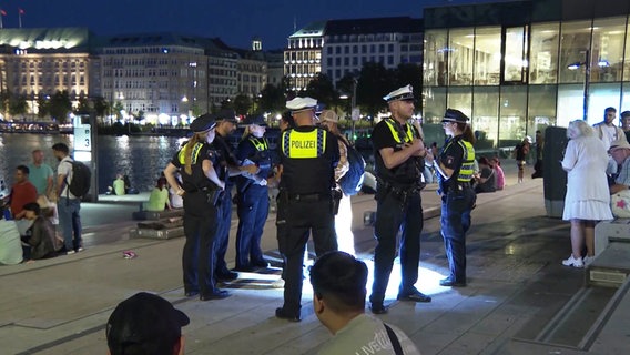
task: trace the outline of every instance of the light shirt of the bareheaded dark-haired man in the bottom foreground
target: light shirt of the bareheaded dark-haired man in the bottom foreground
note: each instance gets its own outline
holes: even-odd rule
[[[396,334],[404,355],[420,354],[403,331],[393,325],[389,325],[389,327]],[[394,346],[383,322],[367,314],[362,314],[352,320],[332,339],[325,343],[318,354],[394,355]]]

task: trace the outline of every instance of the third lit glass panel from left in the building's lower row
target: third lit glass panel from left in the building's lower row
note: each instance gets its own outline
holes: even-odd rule
[[[475,87],[471,128],[477,133],[475,148],[495,148],[499,134],[499,87]]]

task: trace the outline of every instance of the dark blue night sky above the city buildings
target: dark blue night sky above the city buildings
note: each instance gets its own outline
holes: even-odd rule
[[[0,0],[4,28],[87,27],[96,34],[175,32],[219,37],[250,48],[260,37],[263,49],[282,49],[286,39],[312,21],[409,16],[423,7],[474,0]],[[487,2],[487,1],[476,1]]]

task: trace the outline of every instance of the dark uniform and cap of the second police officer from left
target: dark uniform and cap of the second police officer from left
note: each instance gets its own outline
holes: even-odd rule
[[[236,120],[234,112],[230,110],[222,111],[213,115],[216,121],[228,120],[234,124]],[[234,149],[227,142],[227,136],[222,136],[216,132],[216,136],[212,142],[212,148],[219,154],[221,166],[216,169],[219,179],[225,182],[225,193],[219,203],[219,226],[216,231],[216,241],[214,242],[215,271],[216,278],[220,281],[230,281],[236,278],[237,274],[227,268],[225,263],[225,254],[230,242],[230,229],[232,225],[232,190],[234,181],[230,179],[228,166],[241,165],[234,155]]]

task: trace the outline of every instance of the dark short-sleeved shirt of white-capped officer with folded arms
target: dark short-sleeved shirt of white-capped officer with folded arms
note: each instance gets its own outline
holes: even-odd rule
[[[394,121],[393,124],[399,123],[397,121]],[[402,130],[407,132],[407,125],[405,125],[405,128],[402,128]],[[409,126],[413,139],[418,139],[419,133],[413,125]],[[379,179],[390,184],[404,186],[416,184],[419,181],[420,174],[424,171],[424,159],[421,158],[410,156],[400,165],[394,166],[392,169],[385,166],[385,162],[383,160],[383,156],[380,155],[380,150],[384,148],[392,148],[394,152],[397,152],[405,146],[405,141],[400,140],[400,142],[398,142],[396,140],[385,120],[378,122],[378,124],[376,124],[376,126],[374,128],[374,131],[372,132],[372,141],[374,143],[376,175]]]

